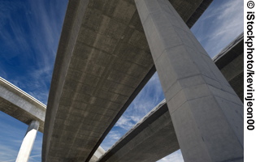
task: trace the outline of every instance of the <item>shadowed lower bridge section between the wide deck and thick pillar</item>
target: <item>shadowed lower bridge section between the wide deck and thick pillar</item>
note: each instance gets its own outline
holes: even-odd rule
[[[157,161],[180,148],[165,100],[119,139],[98,162]]]

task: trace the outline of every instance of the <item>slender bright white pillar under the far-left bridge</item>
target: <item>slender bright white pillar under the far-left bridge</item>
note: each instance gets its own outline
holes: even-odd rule
[[[33,147],[33,143],[37,136],[37,130],[39,127],[39,122],[32,121],[28,126],[28,130],[25,134],[24,140],[21,144],[19,154],[17,156],[16,162],[27,162],[30,152]]]

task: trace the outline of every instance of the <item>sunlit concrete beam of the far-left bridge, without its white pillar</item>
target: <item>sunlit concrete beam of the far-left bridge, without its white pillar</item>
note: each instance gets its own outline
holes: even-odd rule
[[[32,121],[38,121],[39,131],[44,130],[46,105],[1,77],[0,110],[27,125]]]

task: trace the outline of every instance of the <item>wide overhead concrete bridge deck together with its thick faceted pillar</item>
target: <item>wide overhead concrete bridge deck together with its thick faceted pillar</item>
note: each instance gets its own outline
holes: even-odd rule
[[[210,2],[70,1],[42,161],[89,161],[155,69],[184,160],[243,160],[243,104],[189,30]]]

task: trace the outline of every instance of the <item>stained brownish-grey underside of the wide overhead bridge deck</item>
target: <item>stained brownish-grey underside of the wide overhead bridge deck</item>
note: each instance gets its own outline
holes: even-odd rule
[[[194,2],[173,1],[184,19],[202,0]],[[152,71],[133,0],[69,1],[50,85],[42,161],[89,161]]]

